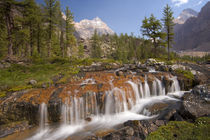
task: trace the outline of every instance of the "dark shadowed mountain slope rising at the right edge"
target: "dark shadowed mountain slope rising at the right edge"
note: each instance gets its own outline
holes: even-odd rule
[[[193,16],[174,29],[174,50],[210,51],[210,2]]]

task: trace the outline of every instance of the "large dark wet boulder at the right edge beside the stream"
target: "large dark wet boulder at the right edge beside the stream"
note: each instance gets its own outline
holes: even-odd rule
[[[195,120],[198,117],[210,115],[210,86],[196,86],[192,92],[185,93],[182,97],[181,114],[185,119]]]

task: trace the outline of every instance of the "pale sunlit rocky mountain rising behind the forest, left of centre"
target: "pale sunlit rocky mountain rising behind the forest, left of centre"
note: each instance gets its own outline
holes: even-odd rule
[[[114,31],[108,27],[99,17],[93,20],[84,19],[75,23],[75,35],[78,38],[89,39],[96,30],[99,35],[102,34],[114,34]]]

